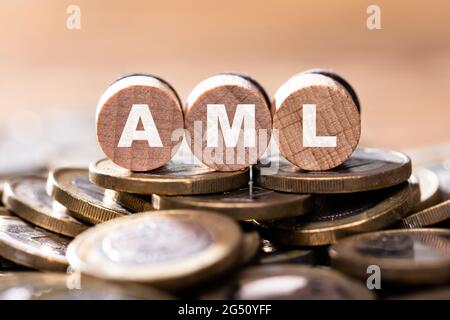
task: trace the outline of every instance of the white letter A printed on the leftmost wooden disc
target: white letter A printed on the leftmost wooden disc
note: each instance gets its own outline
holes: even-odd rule
[[[142,121],[144,130],[137,130],[139,120]],[[163,146],[147,104],[133,104],[117,146],[131,147],[134,140],[147,140],[149,147]]]

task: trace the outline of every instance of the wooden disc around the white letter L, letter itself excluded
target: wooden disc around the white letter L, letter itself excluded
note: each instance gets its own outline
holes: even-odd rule
[[[336,147],[303,146],[303,105],[315,104],[317,136],[336,136]],[[347,160],[361,135],[361,117],[349,92],[321,74],[302,73],[275,94],[273,128],[281,154],[304,170],[328,170]]]

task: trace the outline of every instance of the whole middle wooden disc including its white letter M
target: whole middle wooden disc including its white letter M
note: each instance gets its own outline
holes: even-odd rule
[[[267,94],[240,74],[219,74],[201,82],[189,95],[185,116],[192,152],[218,171],[256,163],[272,132]]]

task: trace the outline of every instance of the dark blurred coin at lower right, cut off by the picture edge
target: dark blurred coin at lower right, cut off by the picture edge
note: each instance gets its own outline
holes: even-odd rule
[[[367,278],[380,268],[382,282],[442,284],[450,280],[450,230],[389,230],[343,239],[329,250],[332,265]]]

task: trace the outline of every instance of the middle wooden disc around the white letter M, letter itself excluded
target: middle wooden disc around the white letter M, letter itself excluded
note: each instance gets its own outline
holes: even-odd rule
[[[208,147],[206,134],[209,129],[208,105],[216,105],[214,108],[222,108],[217,105],[224,105],[230,128],[233,128],[238,108],[243,108],[242,105],[254,105],[256,133],[254,146],[245,144],[244,120],[236,146],[233,146],[232,141],[228,146],[226,145],[226,139],[223,136],[224,128],[218,121],[217,147]],[[235,171],[246,168],[256,163],[267,148],[272,132],[270,101],[264,89],[251,78],[238,74],[212,76],[194,88],[189,95],[184,111],[185,127],[189,132],[187,142],[194,155],[210,168],[218,171]],[[196,122],[197,126],[195,126]],[[260,138],[261,136],[264,138]]]

